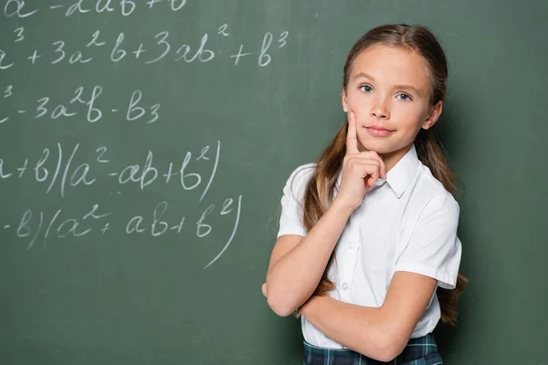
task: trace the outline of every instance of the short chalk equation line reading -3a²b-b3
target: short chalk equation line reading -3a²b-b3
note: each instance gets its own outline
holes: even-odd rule
[[[79,87],[74,90],[72,96],[68,96],[65,103],[53,103],[49,97],[43,97],[33,101],[29,109],[16,110],[16,114],[31,114],[35,120],[47,118],[50,120],[60,120],[70,117],[77,118],[79,113],[83,112],[87,121],[95,123],[105,115],[105,110],[101,110],[100,106],[98,106],[102,94],[103,88],[101,86],[94,86],[89,89]],[[124,106],[122,110],[111,109],[108,111],[112,114],[122,113],[124,115],[123,118],[128,121],[142,121],[145,124],[151,124],[160,118],[159,110],[161,105],[160,103],[147,103],[144,105],[142,95],[142,90],[136,89],[132,92],[131,96],[127,97],[127,106]],[[4,89],[3,99],[5,99],[5,102],[8,102],[13,97],[14,86],[8,85]],[[10,117],[3,117],[1,113],[2,111],[0,111],[0,124],[10,120]]]

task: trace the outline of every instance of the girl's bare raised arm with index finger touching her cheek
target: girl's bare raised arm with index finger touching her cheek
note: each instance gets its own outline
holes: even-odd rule
[[[367,188],[386,176],[376,152],[358,151],[356,134],[351,113],[341,186],[329,209],[304,237],[280,235],[274,245],[266,292],[269,307],[279,316],[289,316],[311,297],[350,214],[362,203]]]

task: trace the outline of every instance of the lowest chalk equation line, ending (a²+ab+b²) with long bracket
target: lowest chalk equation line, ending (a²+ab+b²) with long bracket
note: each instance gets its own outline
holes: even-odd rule
[[[79,238],[86,235],[109,235],[114,231],[122,231],[126,235],[148,235],[160,237],[174,235],[190,231],[197,238],[204,238],[209,235],[214,227],[208,221],[213,214],[226,216],[231,225],[227,232],[227,241],[222,249],[205,266],[213,265],[228,246],[232,243],[237,232],[240,213],[242,208],[242,195],[237,198],[226,198],[222,203],[210,204],[195,217],[179,215],[176,219],[169,220],[165,217],[169,210],[168,203],[162,201],[157,203],[152,212],[132,216],[122,224],[112,223],[116,218],[115,212],[103,211],[100,204],[94,204],[90,210],[75,217],[67,214],[64,210],[58,209],[54,214],[47,216],[44,212],[36,212],[27,209],[21,219],[14,223],[4,223],[0,228],[5,231],[12,231],[18,239],[26,240],[26,249],[31,249],[37,242],[47,248],[48,240]],[[172,214],[173,216],[174,214]],[[188,221],[193,219],[192,223]],[[223,224],[225,226],[225,224]]]

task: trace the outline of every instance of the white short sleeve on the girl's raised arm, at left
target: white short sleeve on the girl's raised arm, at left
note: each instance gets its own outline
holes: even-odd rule
[[[290,174],[283,187],[281,214],[279,215],[278,237],[281,235],[306,235],[302,224],[302,206],[306,183],[308,183],[312,164],[301,165]]]

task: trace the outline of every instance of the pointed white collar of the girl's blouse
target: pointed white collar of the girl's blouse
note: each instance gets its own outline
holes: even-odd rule
[[[415,144],[411,145],[411,148],[407,153],[398,161],[395,166],[390,169],[389,172],[386,172],[386,179],[378,179],[374,183],[373,188],[379,187],[384,183],[388,183],[395,195],[400,198],[411,183],[413,176],[415,176],[416,170],[419,166],[418,156],[416,154]],[[342,170],[339,172],[337,177],[336,189],[339,190],[341,186]]]

